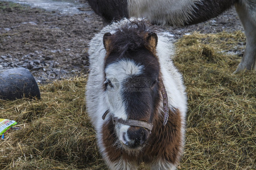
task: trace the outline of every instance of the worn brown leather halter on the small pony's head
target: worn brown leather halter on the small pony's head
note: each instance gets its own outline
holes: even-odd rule
[[[165,126],[167,121],[168,121],[168,116],[169,116],[169,108],[168,108],[168,98],[167,98],[167,93],[166,93],[166,89],[165,86],[163,84],[162,79],[160,79],[159,81],[159,86],[160,86],[160,91],[163,97],[163,112],[164,112],[164,121],[163,121],[163,125]],[[109,113],[109,110],[107,110],[103,116],[102,119],[104,120],[105,117],[107,116],[107,113]],[[138,121],[138,120],[133,120],[133,119],[118,119],[117,117],[113,117],[113,121],[117,121],[121,124],[125,124],[125,125],[130,125],[130,126],[138,126],[138,127],[142,127],[145,129],[149,130],[149,134],[151,133],[151,130],[153,128],[153,124],[147,123],[147,122],[143,122],[143,121]]]

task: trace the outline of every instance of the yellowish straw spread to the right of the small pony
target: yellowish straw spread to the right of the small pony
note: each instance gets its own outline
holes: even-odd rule
[[[240,31],[193,33],[177,43],[188,93],[182,169],[256,169],[256,74],[232,74],[241,59],[232,54],[244,43]]]

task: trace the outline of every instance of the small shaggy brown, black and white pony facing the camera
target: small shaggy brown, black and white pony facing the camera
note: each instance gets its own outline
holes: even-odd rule
[[[90,42],[86,105],[112,170],[176,169],[187,97],[167,32],[144,19],[106,26]]]

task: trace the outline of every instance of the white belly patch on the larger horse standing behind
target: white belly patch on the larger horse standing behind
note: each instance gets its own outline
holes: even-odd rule
[[[184,25],[184,23],[189,22],[196,4],[201,3],[201,1],[202,0],[127,0],[127,6],[129,16],[145,17],[155,24],[165,25],[172,23],[175,25]]]

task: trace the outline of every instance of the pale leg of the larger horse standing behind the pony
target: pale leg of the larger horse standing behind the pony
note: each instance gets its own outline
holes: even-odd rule
[[[235,72],[243,69],[256,70],[256,1],[242,0],[235,4],[238,16],[243,24],[246,46],[243,58]]]

